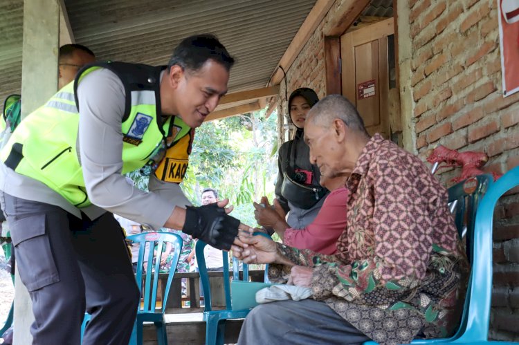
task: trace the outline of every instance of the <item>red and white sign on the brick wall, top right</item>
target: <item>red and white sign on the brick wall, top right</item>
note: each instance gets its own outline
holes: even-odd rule
[[[519,0],[496,0],[499,8],[499,39],[503,97],[519,91]]]

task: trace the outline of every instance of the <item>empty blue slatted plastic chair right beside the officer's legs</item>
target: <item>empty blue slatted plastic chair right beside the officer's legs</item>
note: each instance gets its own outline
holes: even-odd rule
[[[182,250],[182,237],[173,234],[171,232],[143,232],[141,234],[134,234],[128,236],[127,239],[134,243],[139,243],[138,263],[136,280],[137,286],[144,297],[144,304],[141,307],[140,303],[137,310],[137,317],[134,324],[134,329],[131,332],[131,338],[129,344],[131,345],[142,345],[143,344],[143,323],[153,322],[156,327],[157,342],[159,345],[167,344],[167,332],[166,332],[166,321],[164,319],[164,313],[167,303],[167,297],[170,294],[171,282],[173,281],[174,272],[176,265],[179,263],[179,257]],[[158,290],[158,274],[160,273],[161,261],[155,260],[154,248],[157,248],[157,256],[160,257],[162,249],[165,248],[166,243],[172,243],[172,264],[170,272],[167,276],[167,283],[164,290],[162,299],[162,306],[160,309],[156,309],[156,299]],[[147,246],[147,249],[146,249]],[[159,248],[161,250],[159,250]],[[143,286],[143,263],[145,258],[145,252],[147,254],[147,274],[144,279]],[[144,291],[144,293],[143,293]],[[90,315],[85,314],[83,323],[81,326],[81,340],[83,338],[84,328],[90,321]]]

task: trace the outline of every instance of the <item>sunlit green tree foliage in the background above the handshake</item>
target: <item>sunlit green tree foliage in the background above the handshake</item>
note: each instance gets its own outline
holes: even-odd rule
[[[253,201],[274,197],[276,118],[275,113],[265,118],[264,111],[257,111],[202,124],[182,183],[188,198],[199,205],[202,189],[215,188],[220,198],[229,198],[234,205],[233,216],[257,225]]]

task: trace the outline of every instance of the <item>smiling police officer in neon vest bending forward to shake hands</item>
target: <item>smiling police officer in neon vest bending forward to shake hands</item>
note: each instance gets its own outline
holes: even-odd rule
[[[194,128],[227,92],[234,59],[212,35],[184,39],[168,66],[85,66],[28,115],[0,151],[0,201],[21,280],[33,300],[34,344],[127,344],[138,288],[112,213],[229,249],[228,201],[192,207],[178,183]],[[147,165],[149,193],[125,174]]]

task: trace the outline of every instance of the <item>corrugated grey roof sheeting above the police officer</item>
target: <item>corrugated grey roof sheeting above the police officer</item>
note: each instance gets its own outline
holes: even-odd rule
[[[265,86],[316,0],[64,2],[75,42],[99,59],[167,64],[184,37],[214,33],[237,61],[229,81],[235,92]],[[21,85],[22,27],[23,0],[1,1],[1,99]]]

